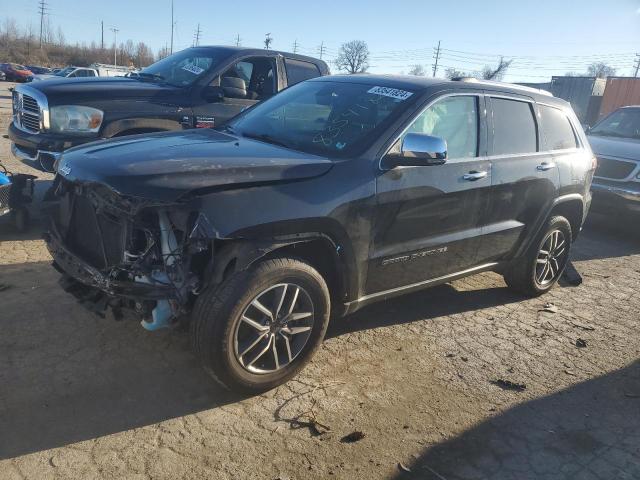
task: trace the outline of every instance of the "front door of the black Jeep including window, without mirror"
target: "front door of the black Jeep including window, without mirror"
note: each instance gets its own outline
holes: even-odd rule
[[[443,165],[396,167],[377,178],[367,294],[457,273],[477,264],[491,163],[486,159],[482,95],[441,97],[407,133],[447,141]]]

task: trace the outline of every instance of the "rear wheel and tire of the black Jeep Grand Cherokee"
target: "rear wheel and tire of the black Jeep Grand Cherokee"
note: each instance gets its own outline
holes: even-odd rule
[[[527,252],[505,271],[507,286],[529,297],[551,290],[569,262],[572,238],[569,221],[561,216],[551,217]],[[545,255],[547,251],[550,253]]]

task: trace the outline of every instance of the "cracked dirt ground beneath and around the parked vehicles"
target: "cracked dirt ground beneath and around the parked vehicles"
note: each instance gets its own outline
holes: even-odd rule
[[[29,170],[6,138],[0,159]],[[589,222],[580,286],[526,300],[482,274],[373,305],[297,379],[239,398],[186,333],[86,312],[38,226],[0,219],[0,478],[638,479],[639,225]]]

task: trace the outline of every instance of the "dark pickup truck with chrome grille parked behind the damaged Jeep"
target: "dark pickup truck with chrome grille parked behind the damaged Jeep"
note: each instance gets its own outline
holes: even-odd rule
[[[57,78],[20,85],[9,126],[13,154],[51,170],[63,150],[102,138],[211,128],[309,78],[325,62],[293,53],[194,47],[124,77]]]

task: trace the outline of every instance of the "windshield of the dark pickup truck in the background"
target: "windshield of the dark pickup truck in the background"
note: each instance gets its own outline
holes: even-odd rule
[[[228,52],[211,48],[189,48],[148,66],[134,78],[185,87],[206,75],[227,56]]]

